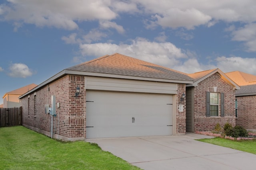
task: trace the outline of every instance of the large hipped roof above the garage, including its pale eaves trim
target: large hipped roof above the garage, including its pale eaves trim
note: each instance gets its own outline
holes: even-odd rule
[[[66,68],[45,82],[39,84],[32,91],[20,96],[20,98],[23,98],[34,90],[46,86],[46,84],[67,74],[183,84],[192,83],[192,78],[186,73],[148,63],[139,59],[134,59],[119,53],[114,53],[112,55],[105,55],[103,57]]]

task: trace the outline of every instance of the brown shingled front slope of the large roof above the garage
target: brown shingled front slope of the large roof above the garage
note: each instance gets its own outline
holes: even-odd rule
[[[192,78],[183,72],[148,63],[126,55],[121,55],[119,53],[105,55],[103,57],[66,68],[65,70],[161,78],[168,80],[192,80]]]

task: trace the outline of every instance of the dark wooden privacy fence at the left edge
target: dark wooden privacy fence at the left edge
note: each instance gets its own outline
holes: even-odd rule
[[[0,127],[22,125],[22,107],[0,108]]]

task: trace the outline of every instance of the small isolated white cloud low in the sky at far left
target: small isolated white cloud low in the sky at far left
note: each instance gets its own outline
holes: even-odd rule
[[[8,73],[11,77],[26,78],[32,76],[35,72],[28,68],[26,64],[14,63],[9,67],[10,72]]]

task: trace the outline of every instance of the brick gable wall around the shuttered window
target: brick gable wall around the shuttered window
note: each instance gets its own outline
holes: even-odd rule
[[[219,93],[219,116],[206,117],[206,92],[214,92],[217,87]],[[224,93],[224,117],[220,117],[220,93]],[[223,80],[218,73],[206,78],[194,87],[194,131],[211,131],[217,123],[223,127],[226,122],[232,126],[236,123],[235,91]]]

